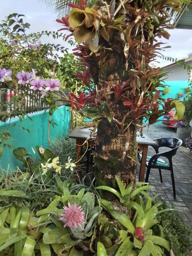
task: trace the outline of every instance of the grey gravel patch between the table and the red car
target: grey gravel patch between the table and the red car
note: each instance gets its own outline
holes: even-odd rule
[[[174,128],[169,128],[163,124],[151,124],[143,128],[143,133],[145,133],[148,137],[153,139],[172,137],[176,138],[176,132]]]

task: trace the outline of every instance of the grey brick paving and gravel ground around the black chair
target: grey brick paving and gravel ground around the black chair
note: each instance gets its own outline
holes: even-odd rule
[[[162,137],[176,137],[175,130],[167,128],[163,125],[150,126],[147,133],[146,128],[144,132],[151,138]],[[168,148],[160,149],[159,152],[169,150]],[[149,147],[148,155],[155,154],[155,150]],[[151,190],[152,195],[159,194],[162,200],[176,209],[182,210],[183,223],[189,225],[192,229],[192,153],[185,147],[179,147],[177,154],[173,157],[173,171],[175,178],[176,198],[173,197],[171,174],[167,170],[162,170],[163,183],[160,182],[158,169],[151,169],[149,176],[149,184],[154,185],[155,188]],[[139,174],[140,165],[137,166],[137,177]]]

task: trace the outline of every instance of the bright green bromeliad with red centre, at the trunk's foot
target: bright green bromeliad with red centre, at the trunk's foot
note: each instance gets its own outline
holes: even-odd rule
[[[106,209],[107,212],[109,212],[110,215],[114,219],[117,219],[122,225],[121,232],[124,235],[123,243],[118,250],[116,250],[116,254],[109,254],[108,250],[106,250],[107,255],[163,255],[163,248],[170,252],[171,245],[164,238],[163,228],[159,225],[157,215],[171,209],[162,209],[159,211],[158,207],[162,205],[161,202],[157,202],[152,205],[152,201],[154,201],[156,197],[151,198],[144,191],[144,188],[149,188],[149,186],[141,187],[141,183],[139,183],[139,188],[136,188],[136,190],[128,194],[131,184],[129,184],[129,186],[127,186],[125,189],[119,180],[117,182],[119,188],[121,188],[120,191],[122,195],[120,193],[117,194],[117,191],[114,191],[111,188],[107,188],[105,186],[98,187],[99,189],[105,189],[114,193],[120,198],[120,202],[122,203],[121,204],[118,201],[118,203],[116,201],[110,202],[101,199],[101,205],[104,207],[104,209]],[[131,197],[132,195],[134,195],[136,201],[133,201],[133,197]],[[125,196],[125,198],[128,199],[125,200],[122,196]],[[146,203],[144,203],[143,197],[147,198]],[[132,198],[131,201],[130,198]],[[124,207],[125,205],[126,207]],[[131,209],[135,210],[132,220],[129,217]],[[125,230],[125,228],[127,230]],[[106,253],[104,248],[105,247],[102,247],[102,253]]]

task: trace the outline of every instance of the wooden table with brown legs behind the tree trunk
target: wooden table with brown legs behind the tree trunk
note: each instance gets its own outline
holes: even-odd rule
[[[90,133],[91,133],[90,128],[82,129],[81,126],[77,126],[72,131],[72,133],[69,135],[69,138],[76,139],[76,159],[79,159],[80,156],[83,154],[82,144],[86,140],[86,138],[90,135]],[[94,137],[92,137],[90,140],[88,140],[88,147],[94,147],[94,145],[95,145],[94,140],[95,140]],[[148,146],[155,145],[156,143],[145,134],[143,134],[143,137],[137,136],[136,140],[137,140],[137,144],[139,146],[139,150],[142,151],[139,181],[143,181],[144,175],[145,175],[145,165],[146,165],[146,160],[147,160]],[[87,146],[87,144],[84,144],[84,146]]]

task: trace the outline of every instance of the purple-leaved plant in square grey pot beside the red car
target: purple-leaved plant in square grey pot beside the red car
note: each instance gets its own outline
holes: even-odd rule
[[[177,128],[176,137],[178,139],[181,139],[183,141],[191,135],[192,127],[186,120],[182,119],[180,121],[177,121],[175,127]]]

